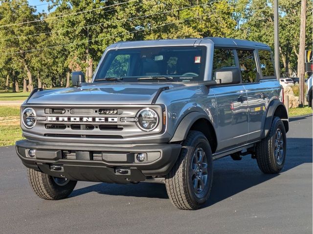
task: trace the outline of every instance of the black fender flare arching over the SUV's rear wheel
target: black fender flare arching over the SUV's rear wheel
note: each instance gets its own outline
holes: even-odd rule
[[[285,105],[278,99],[272,100],[268,105],[268,112],[266,115],[263,132],[261,134],[261,138],[265,138],[268,136],[268,132],[270,130],[271,123],[273,121],[274,114],[276,110],[279,108],[279,114],[276,115],[281,118],[284,123],[286,133],[289,131],[289,120],[288,113]]]

